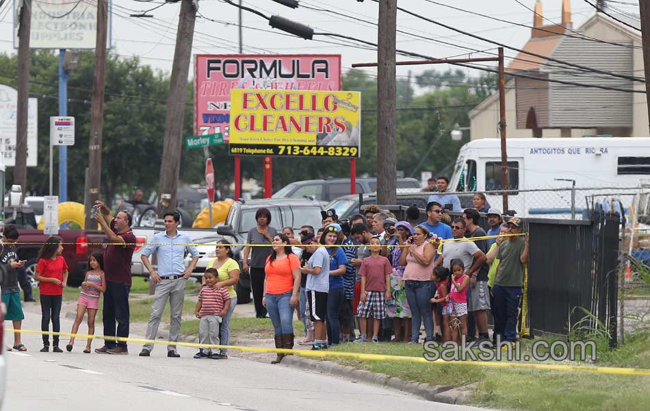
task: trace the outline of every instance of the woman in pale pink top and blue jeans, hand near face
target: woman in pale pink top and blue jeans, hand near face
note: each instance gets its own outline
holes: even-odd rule
[[[400,265],[404,269],[404,292],[408,306],[411,307],[411,343],[419,343],[420,325],[424,322],[426,341],[433,340],[433,315],[431,296],[433,295],[431,272],[435,265],[436,250],[428,242],[429,230],[418,225],[413,236],[404,245]]]

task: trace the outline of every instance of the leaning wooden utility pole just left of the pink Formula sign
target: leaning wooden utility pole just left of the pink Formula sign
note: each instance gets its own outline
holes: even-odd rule
[[[160,164],[158,216],[176,209],[183,140],[183,116],[187,97],[187,75],[189,75],[190,57],[192,56],[194,21],[196,21],[196,3],[192,0],[182,0],[174,62],[172,63],[172,77],[167,97],[165,138]]]

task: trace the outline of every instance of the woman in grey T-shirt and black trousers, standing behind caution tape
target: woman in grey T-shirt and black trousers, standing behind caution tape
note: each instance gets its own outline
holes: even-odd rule
[[[268,208],[259,208],[255,212],[255,221],[257,226],[251,229],[246,237],[246,247],[244,247],[244,258],[242,268],[250,273],[250,288],[252,289],[252,299],[255,303],[255,316],[263,319],[266,316],[266,308],[262,305],[264,297],[264,266],[266,259],[271,255],[271,247],[250,247],[250,245],[270,245],[273,237],[277,234],[276,229],[270,227],[271,212]],[[250,263],[248,255],[250,254]]]

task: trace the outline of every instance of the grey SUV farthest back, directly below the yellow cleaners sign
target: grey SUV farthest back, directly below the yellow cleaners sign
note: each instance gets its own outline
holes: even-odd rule
[[[415,178],[398,178],[398,188],[408,188],[411,192],[420,189],[420,182]],[[377,190],[376,177],[360,177],[356,179],[356,193],[374,192]],[[332,201],[342,195],[350,194],[349,178],[328,178],[303,180],[289,183],[278,190],[273,198],[302,198],[311,197],[316,201]]]

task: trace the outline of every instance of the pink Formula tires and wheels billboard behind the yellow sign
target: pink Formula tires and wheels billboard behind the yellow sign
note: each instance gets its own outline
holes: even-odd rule
[[[341,55],[196,55],[194,135],[229,141],[231,90],[341,90]]]

